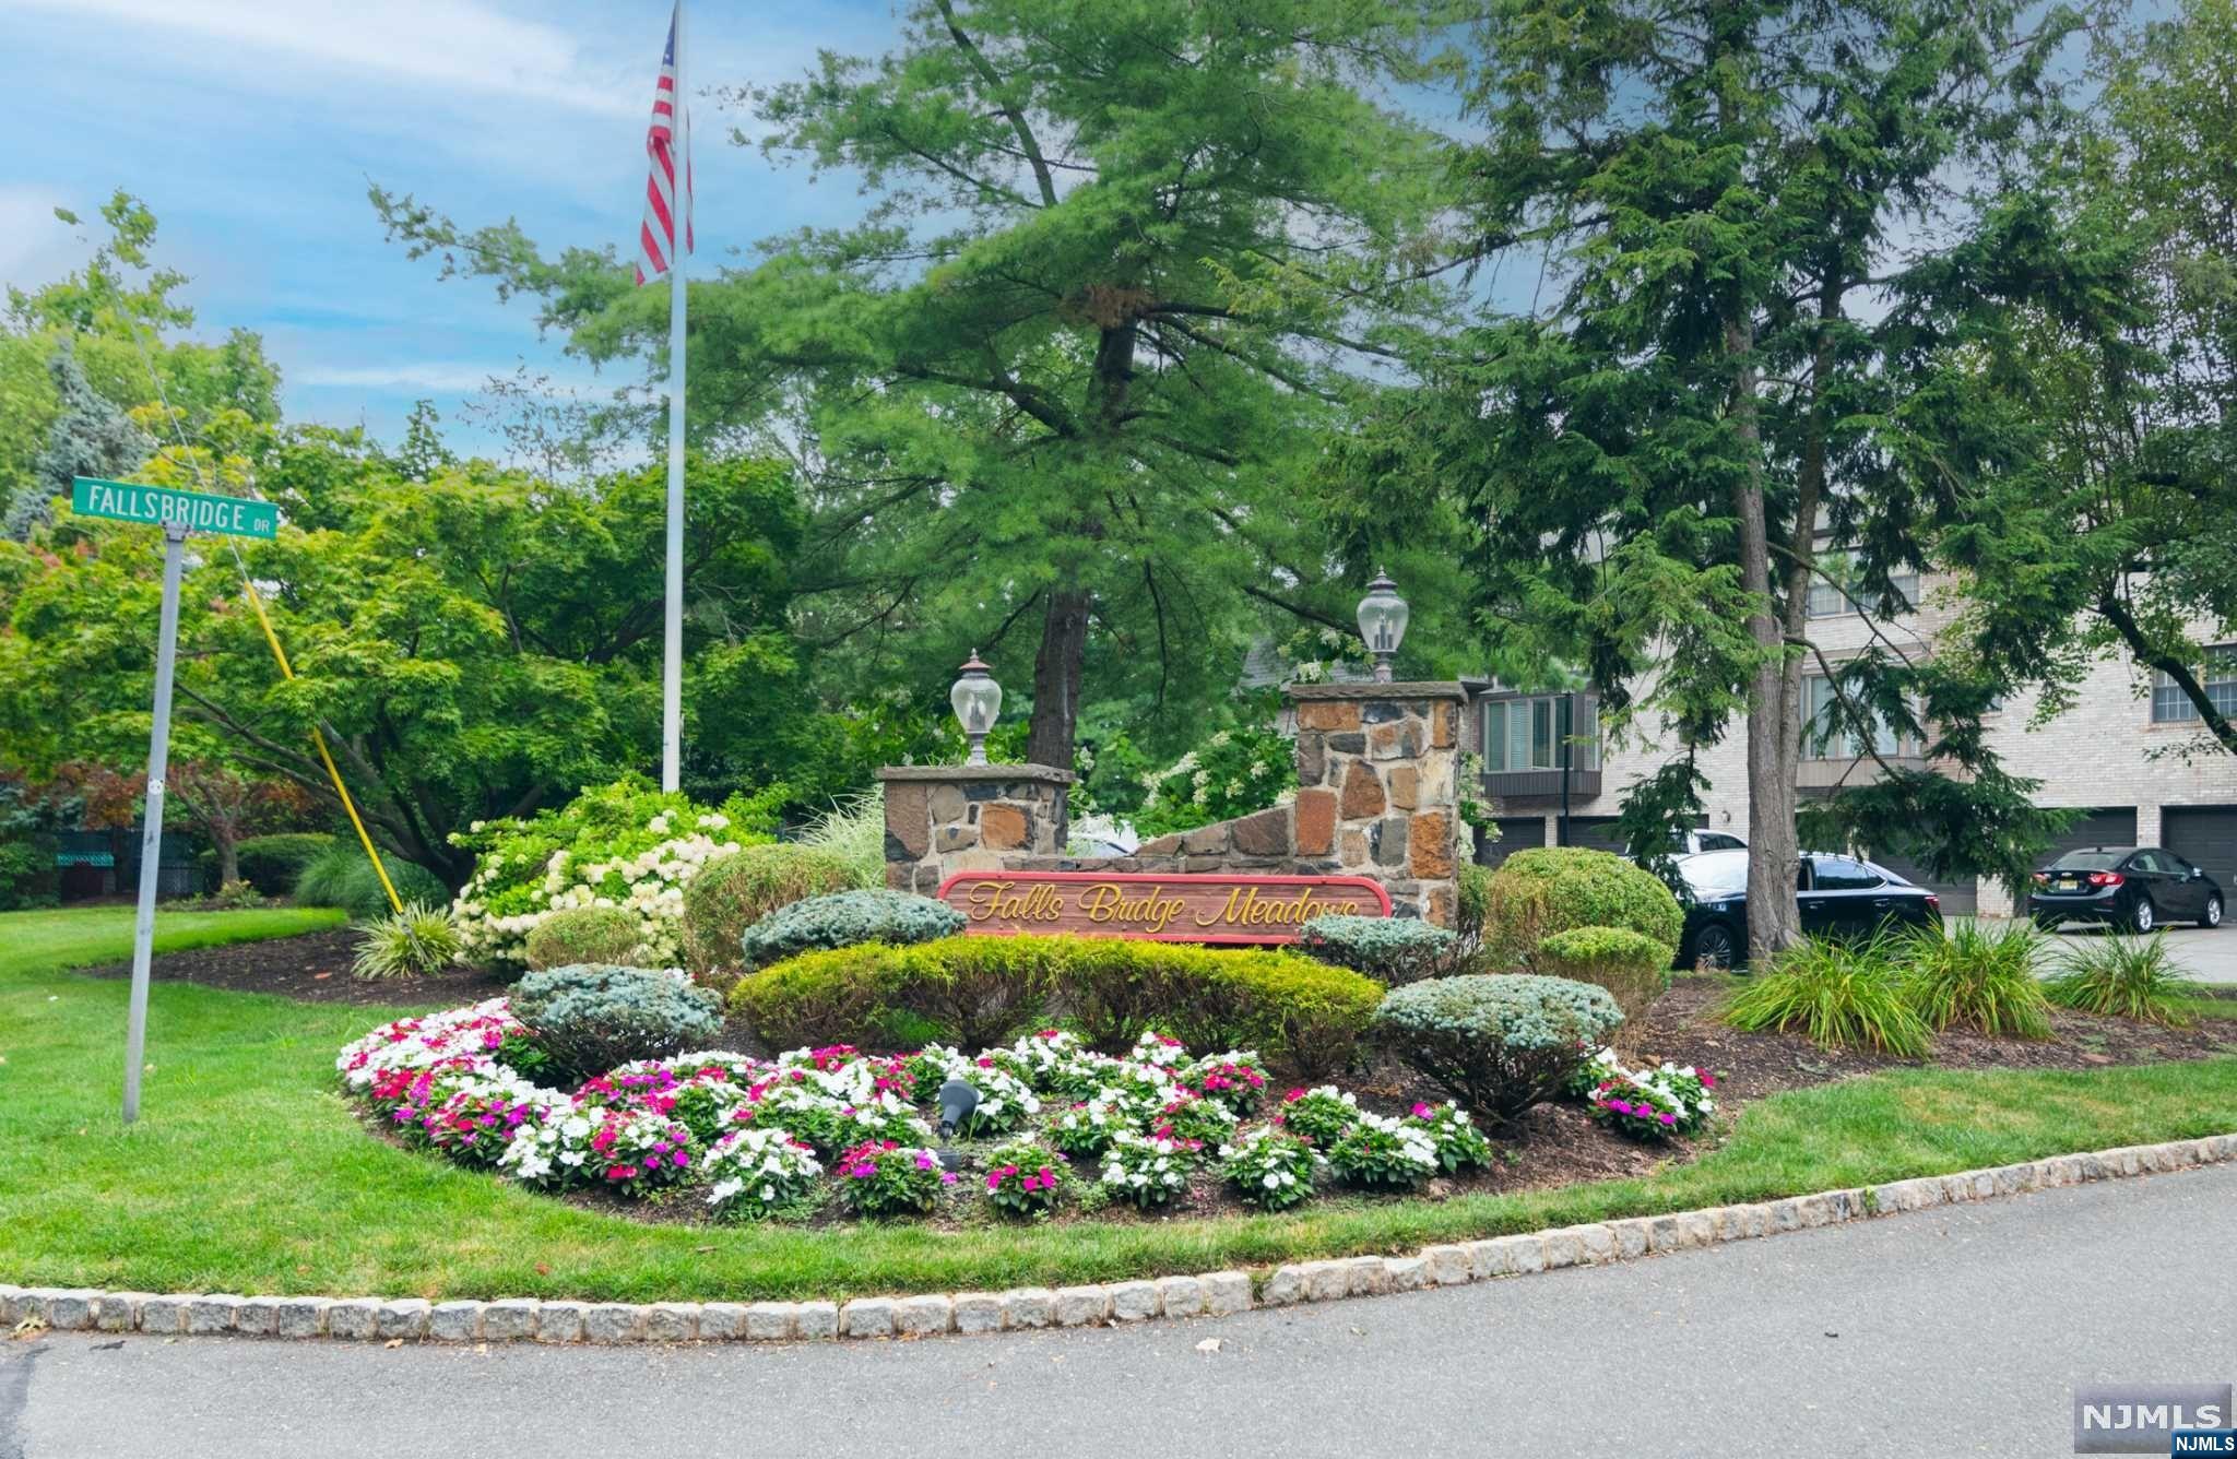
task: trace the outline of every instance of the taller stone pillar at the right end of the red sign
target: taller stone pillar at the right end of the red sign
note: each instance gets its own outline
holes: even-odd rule
[[[1376,877],[1398,915],[1452,926],[1463,832],[1456,683],[1289,685],[1295,855]]]

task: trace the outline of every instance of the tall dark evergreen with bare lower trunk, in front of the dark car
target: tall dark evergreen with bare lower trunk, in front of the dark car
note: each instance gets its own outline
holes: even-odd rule
[[[2018,875],[2045,821],[1982,743],[1995,685],[1886,647],[1825,662],[1807,593],[1834,544],[1857,553],[1857,595],[1897,609],[1919,521],[2016,445],[1957,389],[1973,318],[1944,307],[1982,300],[1953,286],[1960,253],[2016,257],[2011,219],[1953,179],[1993,179],[2051,105],[2042,67],[2074,18],[2011,0],[1485,0],[1472,20],[1485,137],[1456,175],[1483,257],[1537,271],[1539,298],[1432,360],[1434,389],[1347,474],[1398,501],[1456,483],[1501,653],[1548,680],[1582,667],[1613,727],[1678,741],[1633,830],[1691,815],[1691,750],[1740,716],[1756,953],[1799,935],[1810,667],[1839,687],[1832,730],[1870,743],[1893,723],[1964,772],[1884,765],[1872,794],[1915,812],[1884,846]]]

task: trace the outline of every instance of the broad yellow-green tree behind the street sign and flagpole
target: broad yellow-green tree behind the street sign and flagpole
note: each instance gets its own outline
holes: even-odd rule
[[[454,830],[611,781],[658,745],[658,470],[597,490],[481,461],[405,479],[358,432],[320,427],[259,427],[192,465],[280,501],[286,526],[239,557],[197,548],[181,761],[293,781],[331,808],[320,725],[376,835],[456,884]],[[166,456],[150,474],[183,470]],[[801,517],[781,463],[698,461],[693,479],[689,770],[767,783],[817,730],[785,631]],[[128,765],[145,752],[159,535],[65,512],[34,548],[0,546],[0,761]],[[244,575],[295,678],[277,674]]]

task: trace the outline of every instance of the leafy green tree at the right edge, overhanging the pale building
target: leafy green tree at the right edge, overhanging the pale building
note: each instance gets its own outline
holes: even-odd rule
[[[2237,4],[2183,0],[2101,54],[2092,125],[2036,159],[2027,304],[1973,351],[1973,387],[2036,434],[1944,539],[1973,584],[1971,649],[2074,703],[2107,653],[2190,700],[2186,750],[2237,754],[2203,683],[2237,627]]]

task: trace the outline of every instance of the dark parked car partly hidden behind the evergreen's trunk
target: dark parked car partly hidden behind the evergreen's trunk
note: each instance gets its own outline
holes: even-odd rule
[[[1747,853],[1702,850],[1678,857],[1684,882],[1684,933],[1678,967],[1747,962]],[[1870,938],[1881,929],[1942,926],[1942,897],[1886,866],[1805,850],[1794,877],[1803,931],[1812,938]]]

